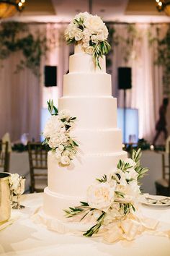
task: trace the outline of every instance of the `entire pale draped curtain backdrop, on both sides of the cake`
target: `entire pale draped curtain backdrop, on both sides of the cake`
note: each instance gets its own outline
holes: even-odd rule
[[[19,140],[23,133],[35,140],[40,138],[40,111],[47,107],[48,99],[58,105],[58,98],[63,94],[63,74],[68,71],[68,56],[73,52],[63,40],[63,32],[67,24],[33,24],[29,25],[31,33],[39,31],[48,38],[50,51],[42,57],[40,64],[40,77],[32,74],[30,69],[14,74],[16,64],[22,59],[22,53],[16,53],[3,61],[4,67],[0,69],[0,137],[9,132],[12,141]],[[132,67],[133,88],[127,90],[127,106],[139,110],[139,136],[148,141],[153,140],[155,124],[158,119],[158,108],[163,98],[162,69],[153,64],[156,56],[156,43],[149,46],[148,29],[156,35],[156,26],[148,24],[135,25],[140,40],[135,39],[130,49],[128,63],[124,60],[125,45],[123,42],[114,46],[112,56],[112,94],[117,97],[117,105],[123,106],[123,92],[117,89],[117,67]],[[166,32],[166,25],[161,27],[160,37]],[[116,33],[128,38],[126,25],[114,25]],[[56,65],[57,87],[44,87],[45,65]],[[168,111],[168,114],[170,111]],[[170,115],[170,114],[169,114]],[[169,116],[170,117],[170,116]],[[170,119],[170,118],[169,118]],[[130,121],[130,120],[128,120]]]

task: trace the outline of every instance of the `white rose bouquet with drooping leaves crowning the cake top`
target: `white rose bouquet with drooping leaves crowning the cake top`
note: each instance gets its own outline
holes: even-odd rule
[[[88,12],[77,14],[65,30],[66,41],[81,43],[86,54],[92,54],[94,63],[100,69],[99,57],[110,50],[107,37],[108,30],[101,17]]]

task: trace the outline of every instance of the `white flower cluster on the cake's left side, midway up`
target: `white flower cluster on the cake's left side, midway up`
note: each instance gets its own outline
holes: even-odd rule
[[[67,110],[58,111],[53,100],[48,101],[48,111],[51,116],[42,133],[45,137],[43,144],[48,145],[55,153],[58,163],[64,166],[69,165],[79,146],[70,135],[76,117],[71,116]]]

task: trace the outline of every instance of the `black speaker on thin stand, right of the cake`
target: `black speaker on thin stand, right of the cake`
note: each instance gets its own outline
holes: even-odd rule
[[[126,90],[132,88],[131,67],[118,67],[118,88],[124,90],[123,93],[123,138],[126,137]]]

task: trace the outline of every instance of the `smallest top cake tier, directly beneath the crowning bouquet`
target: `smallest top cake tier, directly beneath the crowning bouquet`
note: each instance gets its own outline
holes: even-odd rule
[[[94,64],[94,59],[91,54],[86,54],[81,48],[81,44],[74,46],[74,53],[69,59],[70,73],[106,73],[105,56],[99,59],[99,67]]]

